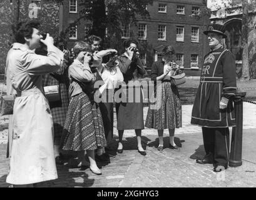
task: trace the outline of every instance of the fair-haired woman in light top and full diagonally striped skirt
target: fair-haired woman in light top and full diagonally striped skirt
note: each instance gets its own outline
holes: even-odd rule
[[[90,68],[91,47],[83,41],[74,44],[76,58],[69,66],[70,103],[61,137],[64,150],[79,151],[82,165],[86,163],[84,150],[90,161],[90,169],[100,175],[101,171],[95,162],[95,150],[106,146],[100,107],[95,103],[90,90],[97,81],[97,74]]]

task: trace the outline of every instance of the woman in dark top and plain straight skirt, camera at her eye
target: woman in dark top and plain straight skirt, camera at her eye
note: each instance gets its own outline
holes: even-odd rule
[[[127,39],[124,42],[125,53],[118,57],[119,67],[123,73],[126,83],[120,94],[121,102],[116,103],[117,129],[119,136],[118,153],[123,153],[124,130],[135,129],[138,141],[138,152],[146,156],[141,146],[141,129],[144,129],[143,121],[143,91],[138,81],[139,76],[146,73],[140,58],[136,55],[138,42],[135,39]],[[128,84],[128,82],[130,84]],[[133,99],[130,99],[129,92],[133,92]],[[138,91],[138,92],[137,92]],[[129,100],[129,101],[128,101]],[[130,100],[133,100],[132,102]]]

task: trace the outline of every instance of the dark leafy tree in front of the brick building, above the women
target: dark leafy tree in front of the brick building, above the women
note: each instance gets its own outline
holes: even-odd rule
[[[63,3],[64,0],[59,0]],[[150,14],[146,6],[153,0],[84,0],[79,4],[81,11],[79,17],[64,30],[67,34],[69,27],[79,24],[82,20],[92,22],[90,34],[103,38],[106,46],[120,48],[121,24],[136,25],[137,17],[149,18]],[[108,36],[106,36],[106,31]]]

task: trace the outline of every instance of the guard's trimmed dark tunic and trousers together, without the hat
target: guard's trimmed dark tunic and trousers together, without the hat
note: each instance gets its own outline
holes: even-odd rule
[[[228,127],[235,126],[232,98],[236,89],[233,54],[224,47],[208,53],[203,62],[191,124],[202,126],[205,152],[213,155],[214,166],[228,166]],[[226,109],[219,108],[220,101],[227,104]]]

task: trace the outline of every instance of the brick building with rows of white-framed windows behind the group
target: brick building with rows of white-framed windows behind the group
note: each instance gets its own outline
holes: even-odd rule
[[[79,17],[79,0],[64,1],[63,29]],[[148,5],[150,19],[138,17],[136,26],[124,24],[122,39],[137,37],[140,41],[141,59],[151,68],[153,61],[161,57],[160,52],[166,44],[172,44],[177,53],[177,61],[188,76],[199,76],[203,55],[207,53],[207,16],[198,16],[206,6],[202,0],[153,1]],[[62,24],[62,23],[61,23]],[[90,21],[80,21],[69,31],[68,46],[76,40],[83,40],[90,30]]]

